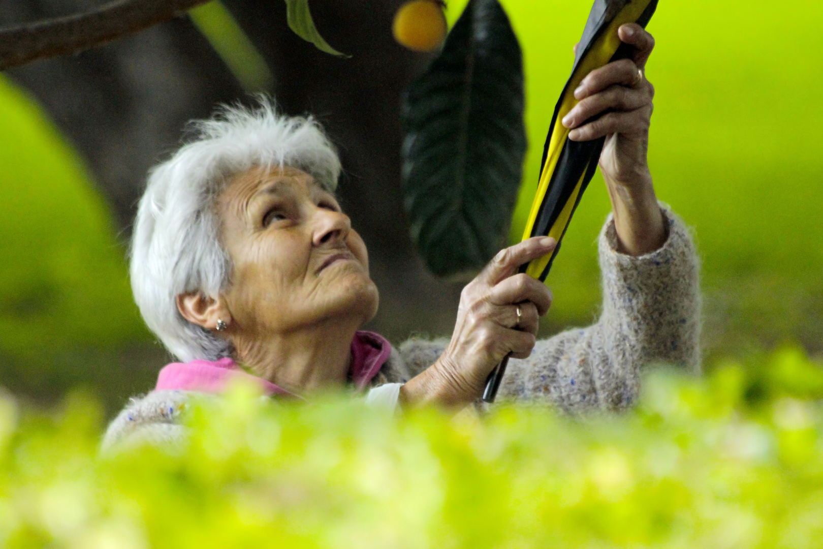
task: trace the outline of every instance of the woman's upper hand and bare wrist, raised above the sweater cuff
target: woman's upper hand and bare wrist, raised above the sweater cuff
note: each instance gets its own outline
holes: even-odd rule
[[[658,249],[667,237],[647,161],[654,86],[645,78],[645,67],[654,39],[635,24],[621,26],[618,35],[634,46],[632,57],[589,72],[574,91],[579,103],[562,122],[572,128],[572,141],[606,138],[600,171],[611,198],[618,249],[642,255]],[[599,119],[586,123],[598,114]]]

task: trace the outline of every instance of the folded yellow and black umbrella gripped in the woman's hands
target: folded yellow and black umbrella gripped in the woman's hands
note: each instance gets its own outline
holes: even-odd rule
[[[605,140],[601,137],[588,142],[571,141],[570,129],[560,121],[577,105],[574,90],[589,72],[612,61],[630,57],[630,46],[621,42],[617,29],[626,23],[637,23],[645,27],[657,6],[658,0],[595,0],[588,15],[583,38],[574,57],[571,77],[566,81],[551,118],[546,145],[543,147],[537,193],[523,231],[523,240],[532,236],[551,236],[557,241],[551,254],[520,268],[521,272],[540,281],[546,280],[571,216],[597,170],[597,161]],[[494,402],[508,361],[508,357],[504,358],[491,371],[483,392],[484,401]]]

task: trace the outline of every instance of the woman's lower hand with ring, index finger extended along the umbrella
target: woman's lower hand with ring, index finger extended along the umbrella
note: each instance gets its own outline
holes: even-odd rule
[[[551,254],[555,244],[543,236],[501,250],[463,288],[449,347],[434,365],[403,385],[401,402],[463,407],[481,396],[486,378],[504,356],[531,354],[540,317],[551,306],[551,291],[517,272],[523,263]]]

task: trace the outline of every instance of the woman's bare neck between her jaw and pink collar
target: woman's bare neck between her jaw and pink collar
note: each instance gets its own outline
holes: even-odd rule
[[[295,394],[342,388],[351,369],[351,340],[360,323],[329,319],[287,333],[235,341],[238,361],[254,375]]]

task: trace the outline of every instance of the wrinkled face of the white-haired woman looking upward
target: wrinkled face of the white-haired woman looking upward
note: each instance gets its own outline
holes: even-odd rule
[[[231,330],[258,337],[320,323],[355,323],[377,312],[369,256],[337,200],[286,166],[235,176],[217,204],[232,261],[223,294]]]

